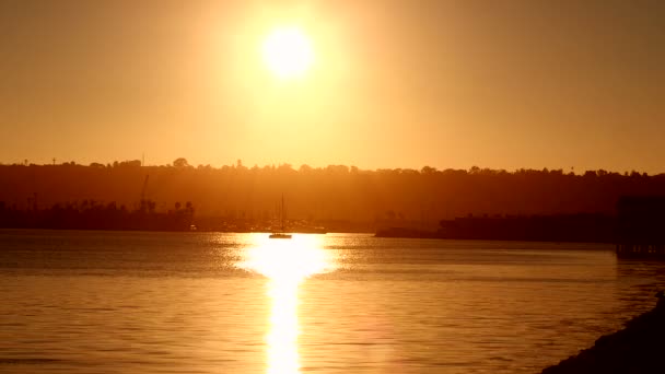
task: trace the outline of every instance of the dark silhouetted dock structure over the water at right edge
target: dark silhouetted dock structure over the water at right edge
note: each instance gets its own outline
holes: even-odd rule
[[[625,196],[617,210],[617,256],[665,259],[665,196]]]

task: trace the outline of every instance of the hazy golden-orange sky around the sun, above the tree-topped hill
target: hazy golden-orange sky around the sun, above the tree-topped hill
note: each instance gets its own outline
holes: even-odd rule
[[[260,58],[299,25],[313,68]],[[665,1],[0,0],[0,161],[665,172]]]

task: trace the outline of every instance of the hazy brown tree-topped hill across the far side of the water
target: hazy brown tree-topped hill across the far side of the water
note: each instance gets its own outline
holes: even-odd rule
[[[276,217],[282,194],[290,220],[438,230],[442,219],[469,213],[611,215],[621,196],[665,194],[665,174],[430,166],[376,171],[345,165],[247,167],[241,161],[195,167],[185,159],[163,166],[142,166],[138,160],[86,166],[73,162],[0,165],[0,201],[14,211],[85,200],[105,209],[113,203],[122,211],[121,206],[136,207],[147,199],[156,201],[152,202],[155,213],[167,213],[176,201],[190,201],[198,218],[266,221]]]

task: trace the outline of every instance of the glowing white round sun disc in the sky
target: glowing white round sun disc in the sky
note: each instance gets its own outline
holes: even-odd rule
[[[301,28],[294,26],[272,30],[262,45],[268,69],[279,79],[303,77],[314,62],[312,43]]]

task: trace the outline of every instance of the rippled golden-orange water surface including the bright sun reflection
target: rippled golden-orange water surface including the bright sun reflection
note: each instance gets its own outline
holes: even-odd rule
[[[0,372],[539,372],[655,304],[611,249],[0,231]]]

